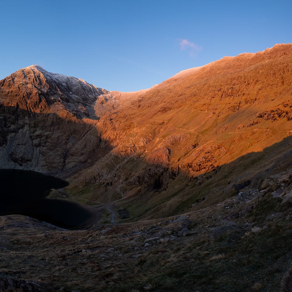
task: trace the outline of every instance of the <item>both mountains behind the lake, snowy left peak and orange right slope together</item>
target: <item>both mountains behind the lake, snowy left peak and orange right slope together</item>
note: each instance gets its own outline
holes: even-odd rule
[[[119,200],[132,219],[218,202],[286,153],[291,61],[292,45],[277,44],[133,93],[21,69],[0,81],[1,166],[50,171],[68,194]]]

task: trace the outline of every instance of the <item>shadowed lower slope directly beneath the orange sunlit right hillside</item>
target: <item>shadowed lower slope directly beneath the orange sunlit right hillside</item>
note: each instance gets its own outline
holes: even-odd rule
[[[164,218],[178,213],[218,204],[244,189],[260,189],[265,178],[292,169],[292,136],[260,152],[244,154],[234,161],[218,165],[211,171],[190,176],[187,171],[148,165],[136,174],[131,185],[137,191],[116,201],[116,211],[128,211],[135,218]],[[290,147],[289,147],[290,146]],[[147,161],[144,161],[147,165]],[[141,177],[150,174],[147,183]],[[152,175],[152,176],[151,176]],[[134,206],[133,206],[134,205]],[[138,211],[137,211],[138,210]]]

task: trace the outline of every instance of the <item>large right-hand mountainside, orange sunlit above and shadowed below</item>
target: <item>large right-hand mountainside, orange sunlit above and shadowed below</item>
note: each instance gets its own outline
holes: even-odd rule
[[[92,201],[122,199],[119,208],[131,206],[134,217],[157,205],[151,216],[182,211],[185,204],[176,206],[183,194],[188,207],[206,195],[215,201],[233,195],[226,183],[253,180],[287,149],[275,143],[292,133],[291,61],[292,45],[279,44],[185,70],[148,90],[112,92],[120,106],[97,126],[114,149],[73,177],[69,191],[75,182]],[[221,171],[249,153],[247,164]],[[206,185],[213,186],[209,194]]]

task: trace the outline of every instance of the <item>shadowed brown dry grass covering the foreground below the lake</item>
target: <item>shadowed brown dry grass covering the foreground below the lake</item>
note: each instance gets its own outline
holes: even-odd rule
[[[266,210],[267,204],[276,208],[270,212],[277,213],[277,205],[269,201],[268,194],[261,201],[254,206],[256,214],[264,210],[263,206]],[[171,230],[180,222],[173,223],[170,219],[175,218],[169,218],[118,225],[95,224],[88,230],[65,231],[24,216],[4,216],[1,217],[1,248],[5,256],[0,261],[0,273],[45,283],[55,291],[65,287],[66,292],[239,291],[238,286],[240,291],[249,291],[251,280],[260,277],[270,278],[261,283],[262,290],[276,291],[289,269],[289,255],[292,256],[286,248],[291,241],[292,225],[285,219],[291,213],[290,208],[280,210],[283,214],[272,217],[269,223],[263,221],[268,227],[248,237],[243,235],[252,225],[249,229],[243,226],[253,218],[254,211],[246,213],[245,218],[233,217],[233,224],[243,229],[230,230],[223,237],[211,240],[213,227],[227,224],[226,216],[246,208],[244,204],[234,206],[232,201],[224,204],[230,208],[213,206],[189,213],[187,219],[193,220],[190,228],[197,233],[167,243],[150,241],[147,247],[144,247],[145,236],[152,236],[155,228]],[[212,218],[214,214],[216,221]],[[263,220],[260,215],[255,218],[257,225]],[[102,235],[101,231],[108,226],[112,230]],[[139,256],[133,257],[136,255]],[[259,284],[253,286],[260,290]]]

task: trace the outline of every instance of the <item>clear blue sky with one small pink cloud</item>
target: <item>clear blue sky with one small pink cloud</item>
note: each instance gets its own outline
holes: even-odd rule
[[[37,64],[108,90],[292,42],[292,1],[3,1],[0,79]]]

